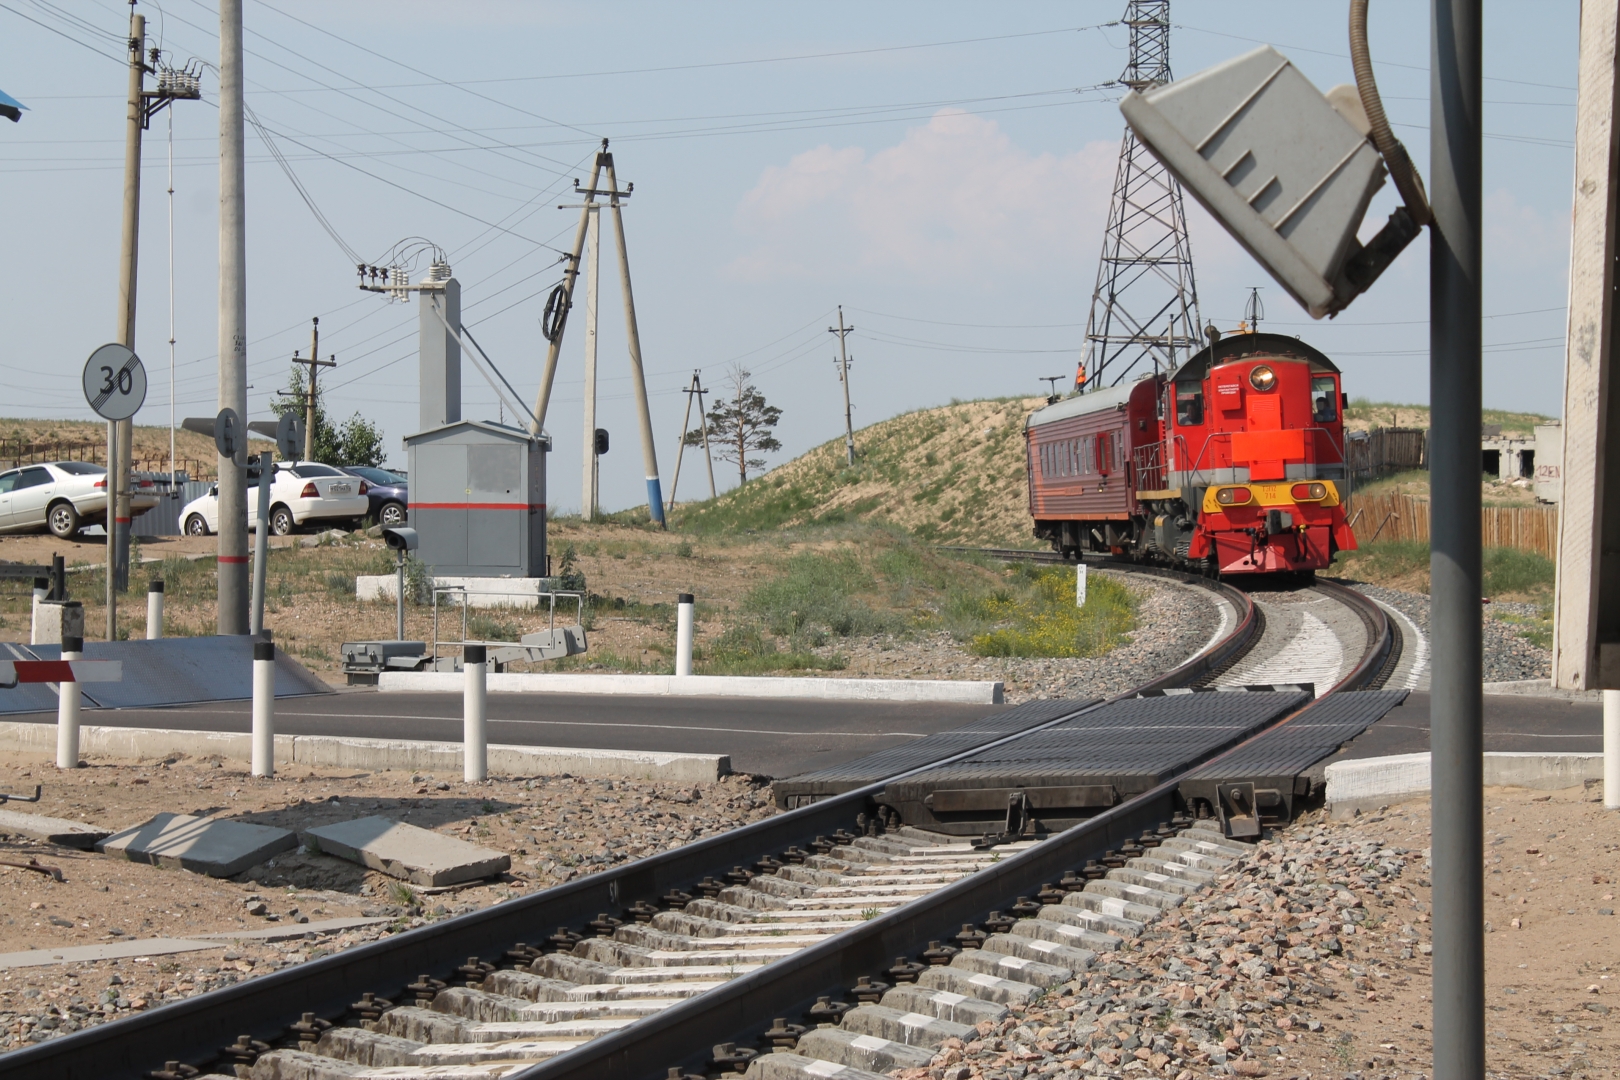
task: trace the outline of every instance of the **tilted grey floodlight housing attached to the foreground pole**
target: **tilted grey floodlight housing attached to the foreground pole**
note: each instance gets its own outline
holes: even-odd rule
[[[1137,138],[1314,319],[1343,311],[1419,232],[1400,207],[1356,240],[1383,186],[1383,155],[1356,87],[1317,91],[1270,45],[1131,91]],[[1380,115],[1382,118],[1382,115]]]

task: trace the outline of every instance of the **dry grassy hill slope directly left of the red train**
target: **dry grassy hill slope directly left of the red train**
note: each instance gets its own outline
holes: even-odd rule
[[[833,439],[719,499],[676,507],[695,533],[867,521],[935,544],[1035,547],[1024,418],[1038,397],[957,402],[855,432],[855,465]]]

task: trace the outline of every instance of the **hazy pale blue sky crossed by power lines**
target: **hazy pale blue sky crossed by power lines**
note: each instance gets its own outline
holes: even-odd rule
[[[143,2],[175,62],[217,62],[217,11]],[[1034,393],[1071,374],[1123,121],[1123,0],[1071,3],[596,3],[246,0],[248,104],[342,240],[366,259],[424,236],[449,251],[463,321],[533,395],[538,319],[572,238],[572,180],[612,139],[664,484],[692,369],[747,364],[784,410],[786,460],[842,429],[826,332],[857,330],[857,426],[951,398]],[[65,15],[66,13],[66,15]],[[13,416],[89,418],[83,358],[113,337],[123,168],[117,0],[0,0],[8,256],[0,371]],[[1179,74],[1265,39],[1319,87],[1351,81],[1345,5],[1178,0]],[[1568,262],[1578,3],[1486,3],[1486,405],[1557,415]],[[1372,8],[1396,133],[1427,168],[1427,5]],[[96,55],[100,53],[100,55]],[[217,363],[217,83],[173,107],[178,413],[211,415]],[[147,133],[136,348],[168,419],[167,113]],[[350,259],[248,133],[251,413],[295,348],[335,353],[329,408],[381,423],[394,460],[415,426],[413,308],[360,293]],[[565,194],[569,193],[569,194]],[[1369,220],[1393,206],[1385,189]],[[1234,325],[1252,285],[1267,329],[1335,356],[1353,395],[1426,402],[1419,241],[1333,322],[1312,322],[1192,210],[1205,321]],[[604,246],[609,236],[604,222]],[[582,311],[548,429],[551,502],[578,507]],[[616,266],[603,274],[601,403],[609,508],[645,499]],[[497,415],[468,368],[465,413]],[[682,470],[682,494],[700,473]],[[718,471],[726,478],[726,470]]]

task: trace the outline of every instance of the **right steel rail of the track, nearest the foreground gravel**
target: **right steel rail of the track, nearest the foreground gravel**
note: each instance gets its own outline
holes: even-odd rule
[[[1063,871],[1100,860],[1144,829],[1170,821],[1176,811],[1181,777],[1220,764],[1306,716],[1328,696],[1364,688],[1382,669],[1392,648],[1393,628],[1369,597],[1341,586],[1332,594],[1382,630],[1369,636],[1361,659],[1328,693],[1281,717],[1265,730],[1189,764],[1174,777],[1058,836],[980,870],[943,889],[878,915],[808,949],[757,972],[731,980],[706,994],[690,997],[632,1027],[612,1031],[509,1080],[654,1080],[679,1072],[698,1072],[711,1046],[752,1043],[774,1017],[797,1017],[816,997],[838,999],[862,975],[878,976],[894,957],[919,955],[928,942],[946,941],[964,923],[980,923],[991,910],[1006,910],[1013,897],[1032,895]]]

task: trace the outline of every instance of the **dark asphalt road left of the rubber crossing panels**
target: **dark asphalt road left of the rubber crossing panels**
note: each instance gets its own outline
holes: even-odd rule
[[[551,693],[492,693],[488,701],[492,743],[731,755],[734,771],[770,777],[854,761],[1009,708]],[[55,724],[57,714],[21,712],[5,719]],[[84,724],[248,732],[253,706],[249,701],[219,701],[164,709],[86,709]],[[280,698],[275,730],[282,735],[460,742],[462,695],[348,690]]]

